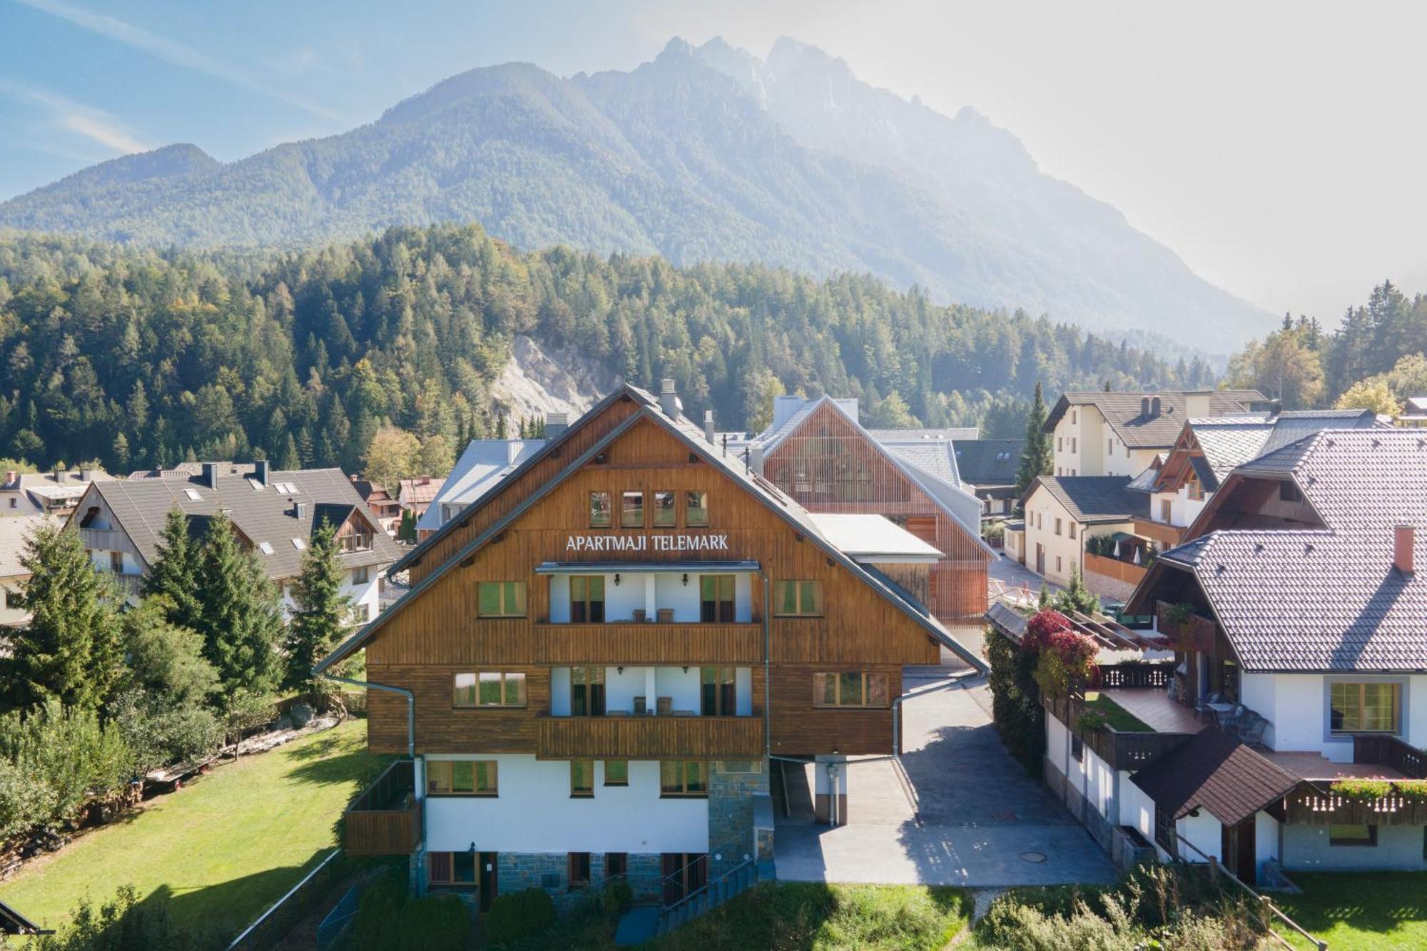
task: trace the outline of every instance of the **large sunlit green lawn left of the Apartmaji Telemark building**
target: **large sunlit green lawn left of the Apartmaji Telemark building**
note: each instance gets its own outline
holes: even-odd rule
[[[234,937],[335,845],[337,818],[381,763],[351,720],[224,764],[0,884],[0,901],[54,927],[83,895],[131,884],[176,924]]]

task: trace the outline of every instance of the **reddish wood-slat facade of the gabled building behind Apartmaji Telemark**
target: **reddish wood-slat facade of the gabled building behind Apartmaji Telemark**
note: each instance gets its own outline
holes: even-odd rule
[[[986,551],[836,407],[808,414],[763,458],[763,476],[808,511],[900,523],[943,555],[930,571],[932,613],[950,624],[979,623],[985,614]]]

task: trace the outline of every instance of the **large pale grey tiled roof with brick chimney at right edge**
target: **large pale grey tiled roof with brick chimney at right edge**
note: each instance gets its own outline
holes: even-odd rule
[[[1240,476],[1291,478],[1324,523],[1222,530],[1160,555],[1194,573],[1243,667],[1427,670],[1427,573],[1393,567],[1394,525],[1416,527],[1427,555],[1427,434],[1324,430]]]

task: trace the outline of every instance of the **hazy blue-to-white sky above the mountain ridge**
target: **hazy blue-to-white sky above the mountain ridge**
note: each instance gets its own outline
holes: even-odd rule
[[[0,0],[0,200],[190,141],[231,161],[477,66],[628,70],[671,36],[779,36],[973,106],[1202,276],[1333,321],[1427,291],[1427,4],[1329,0]]]

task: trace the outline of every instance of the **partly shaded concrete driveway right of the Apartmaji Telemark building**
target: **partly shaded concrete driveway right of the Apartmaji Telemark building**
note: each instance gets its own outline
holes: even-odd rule
[[[778,877],[791,881],[968,887],[1110,882],[1099,845],[1000,745],[985,678],[908,668],[906,753],[848,767],[849,824],[812,822],[812,767],[788,768]]]

